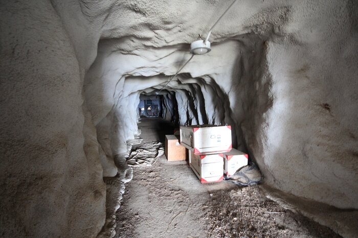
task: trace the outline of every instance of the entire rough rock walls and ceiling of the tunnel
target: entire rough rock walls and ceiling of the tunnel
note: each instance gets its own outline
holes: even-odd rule
[[[3,237],[103,230],[141,95],[176,125],[232,125],[265,186],[358,216],[357,3],[238,0],[192,56],[231,2],[1,3]]]

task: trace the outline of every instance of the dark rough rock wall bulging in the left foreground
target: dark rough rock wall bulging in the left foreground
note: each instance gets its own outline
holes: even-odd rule
[[[105,185],[83,68],[49,1],[0,9],[0,234],[93,237]]]

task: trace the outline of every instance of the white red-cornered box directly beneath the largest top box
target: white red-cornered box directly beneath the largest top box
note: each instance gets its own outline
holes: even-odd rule
[[[201,183],[219,182],[223,179],[222,156],[222,154],[195,155],[189,150],[189,165]]]

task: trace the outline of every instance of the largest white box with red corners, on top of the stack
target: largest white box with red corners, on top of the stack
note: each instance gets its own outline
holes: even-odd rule
[[[232,148],[231,126],[181,126],[180,141],[196,155],[229,152]]]

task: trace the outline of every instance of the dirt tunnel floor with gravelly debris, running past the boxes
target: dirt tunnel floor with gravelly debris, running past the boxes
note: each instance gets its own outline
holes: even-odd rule
[[[142,144],[164,144],[173,131],[163,119],[142,119],[139,127]],[[340,237],[267,198],[260,185],[201,184],[187,162],[165,156],[133,167],[116,220],[116,237]]]

